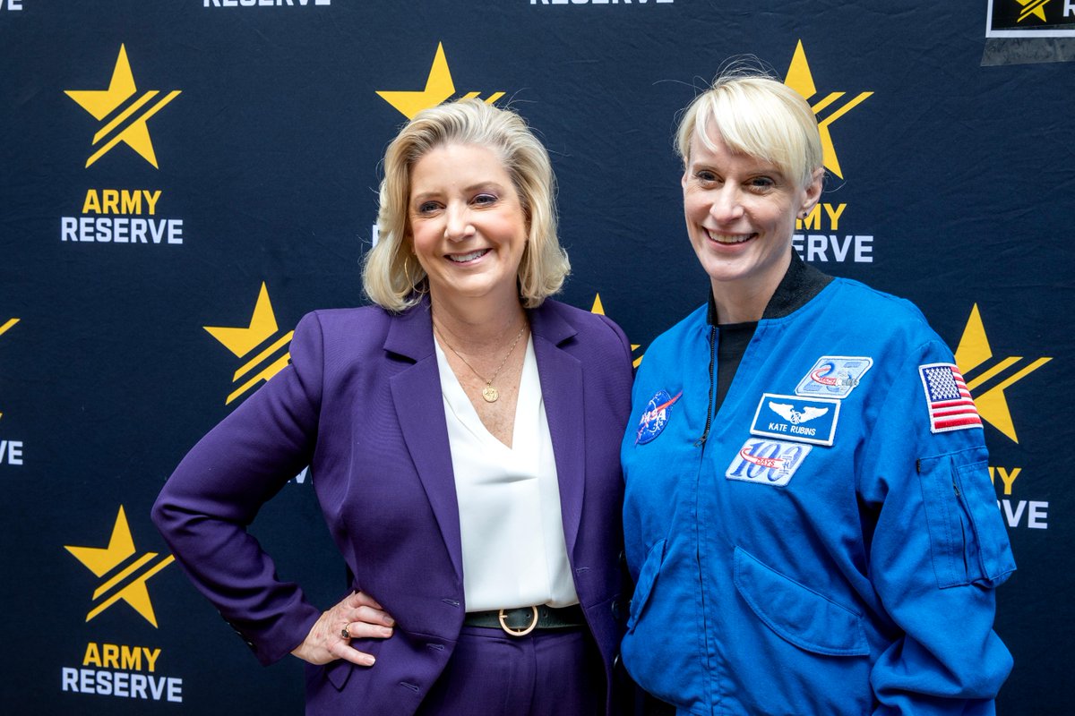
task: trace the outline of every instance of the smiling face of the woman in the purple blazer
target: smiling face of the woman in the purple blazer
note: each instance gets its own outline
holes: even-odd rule
[[[434,303],[518,303],[516,279],[527,221],[494,151],[447,144],[422,156],[411,170],[407,219]]]

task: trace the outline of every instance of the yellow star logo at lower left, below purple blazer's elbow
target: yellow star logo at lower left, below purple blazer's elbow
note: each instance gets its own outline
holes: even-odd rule
[[[94,601],[98,602],[100,600],[100,602],[86,614],[87,622],[117,601],[123,600],[141,614],[146,622],[154,627],[157,626],[157,615],[153,612],[153,603],[149,601],[149,590],[146,589],[145,582],[171,565],[175,560],[175,557],[168,555],[150,566],[149,562],[156,559],[157,553],[146,552],[130,565],[119,569],[137,552],[134,549],[134,539],[131,537],[131,530],[127,524],[127,515],[124,513],[121,505],[119,506],[119,513],[116,515],[115,525],[112,527],[112,537],[109,539],[108,546],[86,547],[64,545],[63,549],[74,555],[75,559],[81,561],[86,569],[94,572],[95,576],[106,578],[94,590]],[[113,574],[109,576],[110,573]]]

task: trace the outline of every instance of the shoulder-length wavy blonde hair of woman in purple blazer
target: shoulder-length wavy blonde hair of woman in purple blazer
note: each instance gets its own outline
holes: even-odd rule
[[[527,220],[527,245],[519,264],[519,297],[535,308],[560,290],[571,271],[557,238],[556,179],[548,152],[526,121],[511,109],[477,99],[424,109],[385,151],[385,177],[377,211],[379,238],[366,255],[362,281],[371,301],[392,311],[418,303],[426,272],[411,257],[411,173],[431,150],[449,144],[486,147],[500,157]]]

